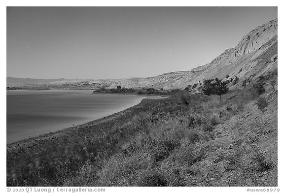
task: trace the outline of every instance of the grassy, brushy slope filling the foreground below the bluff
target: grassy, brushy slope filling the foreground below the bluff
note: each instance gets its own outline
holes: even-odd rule
[[[265,87],[263,110],[250,88],[179,93],[7,149],[7,186],[277,186],[277,76]]]

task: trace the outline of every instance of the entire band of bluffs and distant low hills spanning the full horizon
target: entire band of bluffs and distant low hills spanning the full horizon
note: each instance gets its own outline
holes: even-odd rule
[[[12,79],[7,78],[7,86],[32,86],[37,84],[43,88],[56,89],[97,89],[116,88],[155,88],[183,89],[188,85],[201,83],[205,79],[222,78],[224,80],[238,76],[241,81],[246,78],[257,79],[268,70],[277,68],[278,19],[258,26],[246,34],[235,48],[226,49],[210,64],[198,66],[188,71],[164,73],[147,78],[126,78],[113,80],[68,80],[53,79]],[[226,76],[228,78],[226,78]],[[239,81],[239,83],[241,82]],[[234,85],[234,88],[240,84]],[[233,85],[229,85],[233,86]],[[196,88],[198,89],[198,88]]]

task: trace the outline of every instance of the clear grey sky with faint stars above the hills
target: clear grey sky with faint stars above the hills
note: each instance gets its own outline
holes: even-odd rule
[[[8,7],[7,77],[114,79],[210,63],[277,7]]]

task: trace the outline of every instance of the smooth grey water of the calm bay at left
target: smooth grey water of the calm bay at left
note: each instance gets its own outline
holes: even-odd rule
[[[7,143],[96,120],[142,98],[74,90],[7,91]]]

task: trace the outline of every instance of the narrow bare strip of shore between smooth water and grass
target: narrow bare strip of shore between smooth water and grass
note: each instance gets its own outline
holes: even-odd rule
[[[60,129],[60,130],[57,130],[57,131],[40,134],[38,136],[34,136],[34,137],[27,138],[27,139],[22,139],[22,140],[19,140],[19,141],[8,143],[8,144],[6,144],[6,151],[17,149],[17,148],[27,148],[27,147],[35,146],[37,143],[40,143],[40,141],[42,141],[42,140],[54,139],[54,138],[56,138],[60,135],[67,135],[69,131],[72,131],[72,130],[75,130],[75,129],[92,127],[92,126],[99,125],[99,124],[102,124],[102,123],[105,123],[105,122],[108,122],[108,121],[112,121],[114,119],[119,118],[122,115],[125,115],[127,113],[131,113],[132,108],[135,108],[138,105],[142,104],[142,102],[144,102],[145,100],[161,99],[161,98],[165,98],[165,97],[168,97],[168,96],[153,96],[153,95],[152,95],[152,97],[151,96],[145,96],[145,97],[142,98],[142,100],[138,104],[131,106],[131,107],[125,109],[125,110],[113,113],[111,115],[108,115],[108,116],[105,116],[105,117],[102,117],[102,118],[99,118],[99,119],[96,119],[96,120],[92,120],[92,121],[89,121],[89,122],[86,122],[86,123],[83,123],[83,124],[79,124],[79,125],[76,125],[76,126],[72,126],[72,127]]]

